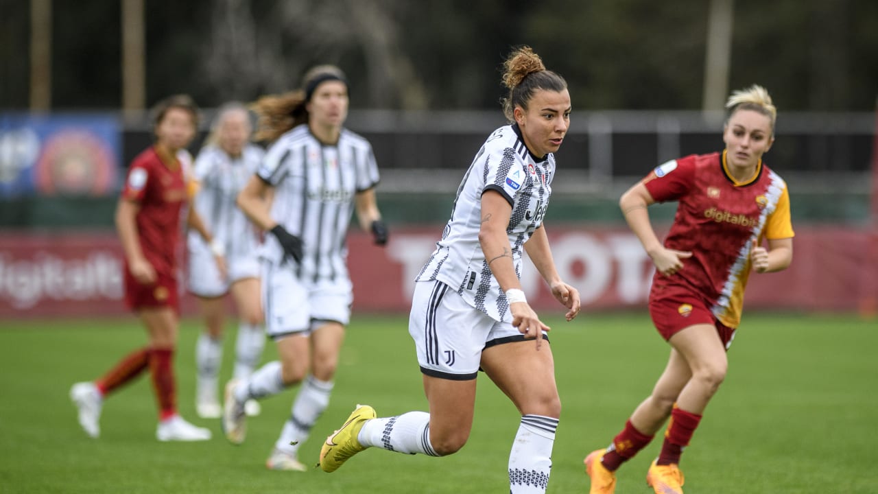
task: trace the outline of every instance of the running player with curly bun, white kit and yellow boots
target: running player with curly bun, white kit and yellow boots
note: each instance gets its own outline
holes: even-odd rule
[[[509,55],[503,82],[511,125],[493,132],[466,171],[442,240],[415,283],[414,338],[429,413],[376,418],[358,405],[320,450],[335,471],[366,447],[443,456],[469,438],[479,367],[515,403],[522,421],[509,455],[512,493],[543,493],[561,412],[543,324],[522,292],[527,251],[551,293],[579,313],[579,292],[558,277],[543,215],[555,157],[570,122],[565,80],[529,47]],[[522,251],[523,249],[523,251]]]

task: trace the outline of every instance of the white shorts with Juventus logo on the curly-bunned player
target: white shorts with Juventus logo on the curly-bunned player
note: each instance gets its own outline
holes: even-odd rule
[[[475,379],[488,346],[524,339],[511,323],[493,320],[442,281],[414,283],[408,332],[421,372],[453,381]]]

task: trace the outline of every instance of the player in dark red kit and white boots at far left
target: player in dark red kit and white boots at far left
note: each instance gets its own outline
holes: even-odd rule
[[[146,326],[149,345],[127,355],[97,381],[76,383],[70,396],[79,408],[79,424],[97,438],[104,397],[149,367],[159,404],[158,440],[209,440],[210,430],[177,414],[173,360],[179,326],[176,248],[181,209],[189,202],[178,153],[195,136],[198,108],[188,96],[178,95],[159,102],[154,113],[155,146],[134,158],[116,209],[116,228],[125,251],[126,304]],[[212,243],[194,209],[188,209],[186,218],[190,228]],[[224,272],[224,258],[215,254],[214,262]]]

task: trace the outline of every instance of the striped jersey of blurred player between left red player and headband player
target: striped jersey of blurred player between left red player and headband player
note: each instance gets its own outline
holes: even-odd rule
[[[207,230],[226,246],[226,258],[255,255],[259,247],[259,232],[247,216],[235,204],[238,193],[247,185],[265,152],[248,144],[241,156],[232,157],[209,144],[198,153],[192,171],[198,182],[195,210],[201,216]],[[189,232],[189,248],[207,249],[198,232]]]

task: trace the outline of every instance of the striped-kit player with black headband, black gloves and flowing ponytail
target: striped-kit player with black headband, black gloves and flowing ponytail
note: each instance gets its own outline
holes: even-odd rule
[[[305,76],[303,90],[256,103],[257,137],[274,142],[238,196],[250,220],[270,232],[263,244],[265,324],[280,361],[248,379],[229,381],[223,428],[244,440],[243,403],[303,382],[266,465],[304,470],[299,445],[326,409],[333,388],[353,291],[345,236],[353,209],[375,243],[387,229],[375,200],[378,166],[371,145],[344,128],[348,83],[324,65]],[[267,195],[273,193],[273,200]]]

